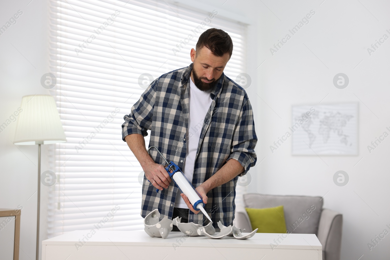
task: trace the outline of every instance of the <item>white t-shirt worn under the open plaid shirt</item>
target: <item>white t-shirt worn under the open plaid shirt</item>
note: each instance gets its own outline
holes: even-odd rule
[[[199,90],[193,83],[190,77],[190,117],[188,118],[188,129],[186,134],[187,143],[187,156],[184,160],[183,169],[184,176],[191,182],[194,172],[195,156],[198,150],[198,143],[200,133],[202,132],[204,118],[209,111],[211,102],[213,101],[210,97],[210,91]],[[177,192],[175,207],[188,209],[183,198],[180,196],[181,191]]]

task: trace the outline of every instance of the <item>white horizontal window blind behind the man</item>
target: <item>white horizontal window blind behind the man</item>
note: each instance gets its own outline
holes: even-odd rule
[[[50,0],[50,71],[57,79],[50,91],[67,142],[49,151],[57,174],[48,195],[49,238],[144,228],[142,168],[122,141],[123,117],[152,80],[188,66],[199,35],[213,27],[232,38],[224,73],[234,80],[245,72],[245,25],[218,10],[157,0]]]

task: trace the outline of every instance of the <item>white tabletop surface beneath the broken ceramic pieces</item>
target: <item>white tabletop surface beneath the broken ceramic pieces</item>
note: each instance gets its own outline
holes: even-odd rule
[[[76,230],[57,237],[42,241],[43,245],[74,245],[79,243],[87,230]],[[282,235],[283,240],[282,240]],[[249,239],[235,239],[223,237],[222,239],[210,239],[205,236],[185,237],[181,232],[170,232],[166,239],[161,237],[149,237],[144,230],[136,231],[105,231],[99,230],[87,241],[91,246],[169,246],[182,239],[182,247],[220,247],[220,248],[271,248],[270,244],[277,245],[274,239],[279,239],[278,249],[314,249],[322,250],[321,243],[315,234],[279,234],[279,233],[255,233]]]

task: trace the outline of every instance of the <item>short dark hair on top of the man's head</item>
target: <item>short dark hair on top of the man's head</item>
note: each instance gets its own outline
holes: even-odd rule
[[[229,53],[229,58],[232,57],[232,39],[230,38],[229,34],[221,29],[210,28],[199,36],[198,42],[196,44],[196,56],[198,56],[198,51],[203,47],[208,48],[211,53],[216,56],[222,56],[225,53]]]

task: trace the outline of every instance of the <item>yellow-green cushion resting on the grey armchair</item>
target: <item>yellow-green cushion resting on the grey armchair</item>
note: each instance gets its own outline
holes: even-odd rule
[[[286,233],[283,206],[273,208],[253,209],[245,208],[248,212],[253,230],[257,233]]]

